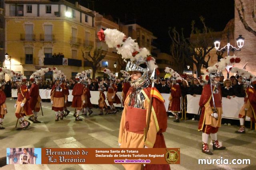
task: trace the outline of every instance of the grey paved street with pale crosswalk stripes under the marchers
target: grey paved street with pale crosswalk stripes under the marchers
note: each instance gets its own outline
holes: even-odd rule
[[[0,131],[0,157],[6,156],[6,148],[35,147],[35,148],[110,148],[118,147],[118,130],[121,113],[116,115],[98,115],[99,109],[93,109],[90,116],[81,116],[83,121],[74,121],[74,109],[69,107],[70,114],[55,122],[51,104],[42,103],[44,117],[40,112],[38,120],[42,123],[31,123],[25,131],[16,131],[16,117],[14,104],[16,100],[6,100],[8,114],[4,118],[4,127]],[[212,170],[212,169],[256,169],[256,131],[249,131],[244,135],[236,134],[236,125],[220,128],[218,139],[227,147],[226,150],[215,150],[214,155],[208,156],[201,152],[201,132],[197,131],[198,121],[181,121],[174,123],[174,118],[168,117],[168,129],[164,133],[167,147],[180,148],[180,165],[170,165],[172,170]],[[250,165],[198,165],[199,158],[220,158],[251,160]],[[122,165],[6,165],[1,170],[115,170],[124,169]]]

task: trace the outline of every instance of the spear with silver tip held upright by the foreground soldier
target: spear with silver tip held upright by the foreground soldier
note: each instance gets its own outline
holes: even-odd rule
[[[152,75],[151,75],[151,77],[150,77],[150,80],[152,80],[152,87],[151,87],[151,90],[150,90],[150,99],[149,99],[149,107],[148,107],[147,125],[146,125],[146,127],[145,127],[145,129],[144,129],[144,135],[145,135],[144,142],[145,142],[146,139],[147,139],[148,129],[149,129],[149,123],[150,123],[150,117],[151,117],[151,109],[152,109],[152,102],[153,102],[154,85],[155,85],[155,82],[156,82],[156,80],[157,80],[156,68],[154,68],[154,71],[152,72]]]

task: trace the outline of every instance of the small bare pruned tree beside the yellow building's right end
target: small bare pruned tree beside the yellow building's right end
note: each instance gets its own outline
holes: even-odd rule
[[[100,61],[104,59],[106,53],[107,52],[103,51],[102,49],[90,49],[87,52],[82,51],[84,61],[86,61],[88,65],[92,67],[92,78],[95,78],[95,73],[100,67]]]

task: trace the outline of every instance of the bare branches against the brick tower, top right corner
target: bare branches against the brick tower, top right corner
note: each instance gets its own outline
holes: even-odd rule
[[[256,36],[256,30],[252,29],[252,27],[250,27],[250,26],[248,25],[248,23],[246,22],[246,20],[245,20],[246,17],[245,17],[245,14],[244,14],[244,4],[243,4],[242,0],[239,0],[239,2],[240,2],[240,3],[239,3],[239,4],[240,4],[240,7],[236,6],[236,3],[235,3],[236,10],[237,10],[237,12],[238,12],[238,16],[239,16],[241,22],[243,23],[244,28],[245,28],[247,31],[253,33],[253,35]],[[254,23],[256,23],[256,18],[255,18],[255,0],[253,0],[252,18],[253,18]]]

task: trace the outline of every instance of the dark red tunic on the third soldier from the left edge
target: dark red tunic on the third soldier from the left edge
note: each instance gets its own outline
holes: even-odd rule
[[[39,86],[36,83],[33,83],[31,85],[29,94],[30,94],[30,100],[29,100],[30,108],[36,112],[40,111],[41,97],[39,95]]]

